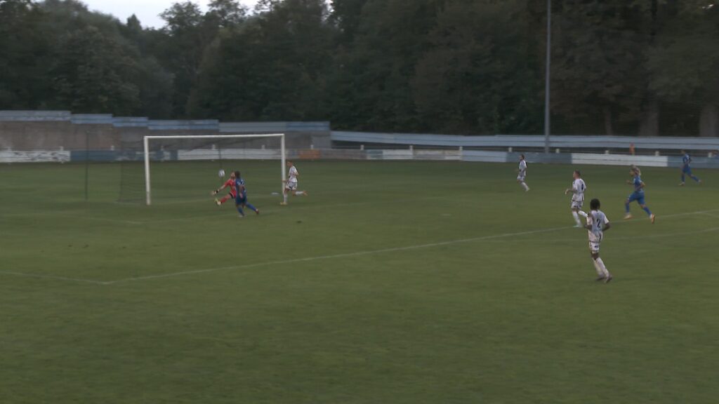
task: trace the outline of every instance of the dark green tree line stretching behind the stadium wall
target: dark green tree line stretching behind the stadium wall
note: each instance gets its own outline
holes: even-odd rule
[[[546,2],[0,0],[0,109],[538,134]],[[719,4],[554,0],[554,133],[719,136]]]

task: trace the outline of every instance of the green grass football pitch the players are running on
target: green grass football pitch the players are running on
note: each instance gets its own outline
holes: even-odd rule
[[[0,167],[0,403],[716,402],[718,172],[645,168],[651,225],[582,167],[603,285],[572,167],[300,162],[281,207],[278,165],[242,164],[245,219],[213,163],[153,165],[152,207],[116,165],[87,202],[83,165]]]

